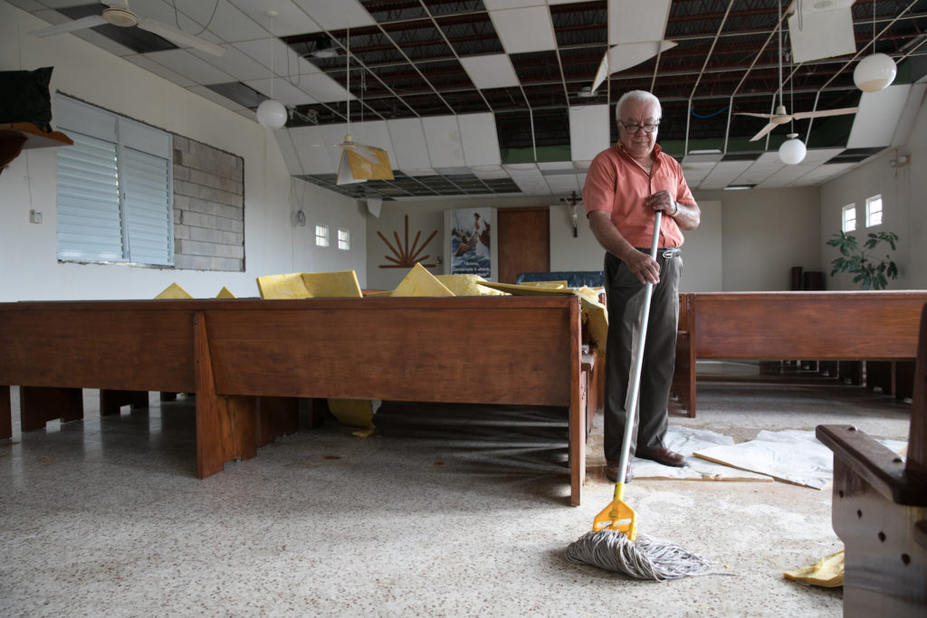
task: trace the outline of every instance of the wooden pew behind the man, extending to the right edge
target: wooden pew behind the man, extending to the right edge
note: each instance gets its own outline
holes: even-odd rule
[[[698,359],[913,360],[925,291],[684,296],[674,392],[694,417]]]

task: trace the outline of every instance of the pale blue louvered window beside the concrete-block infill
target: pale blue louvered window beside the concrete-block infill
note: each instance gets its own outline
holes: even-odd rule
[[[57,95],[57,257],[173,264],[171,133]]]

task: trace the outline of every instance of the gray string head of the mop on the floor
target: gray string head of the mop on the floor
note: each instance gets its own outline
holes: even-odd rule
[[[564,557],[574,564],[655,581],[707,574],[711,566],[705,558],[673,543],[646,535],[631,541],[625,533],[608,528],[580,536],[565,549]]]

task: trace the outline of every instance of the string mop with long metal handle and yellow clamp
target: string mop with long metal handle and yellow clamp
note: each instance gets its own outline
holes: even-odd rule
[[[654,220],[654,241],[650,257],[656,259],[660,240],[662,210],[656,211]],[[627,401],[629,411],[625,419],[625,436],[621,444],[621,459],[618,464],[618,480],[615,484],[615,498],[592,521],[592,531],[578,538],[565,549],[567,561],[575,564],[591,564],[607,571],[628,574],[637,579],[677,579],[686,575],[705,574],[710,563],[701,556],[667,541],[656,540],[637,533],[637,513],[624,501],[625,472],[627,471],[631,430],[638,409],[638,392],[641,387],[643,347],[647,338],[647,322],[650,317],[650,301],[654,295],[654,284],[644,287],[641,309],[641,336],[634,353],[634,363],[629,381],[630,392]]]

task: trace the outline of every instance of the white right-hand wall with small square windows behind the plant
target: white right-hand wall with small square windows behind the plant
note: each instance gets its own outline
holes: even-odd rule
[[[892,168],[889,161],[899,155],[908,155],[908,165]],[[882,195],[883,224],[866,229],[866,199]],[[827,183],[821,191],[820,270],[831,273],[831,261],[840,254],[832,246],[824,244],[834,233],[840,232],[841,211],[844,206],[857,205],[857,241],[865,239],[870,232],[894,232],[899,236],[897,251],[892,259],[898,266],[898,278],[889,280],[888,289],[927,289],[927,98],[921,101],[920,111],[908,134],[907,143],[886,152]],[[878,256],[889,251],[879,246]],[[859,289],[852,276],[840,273],[828,280],[828,287],[834,290]]]

